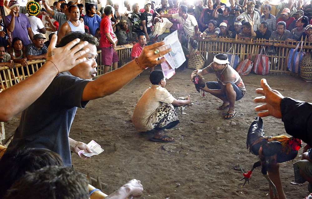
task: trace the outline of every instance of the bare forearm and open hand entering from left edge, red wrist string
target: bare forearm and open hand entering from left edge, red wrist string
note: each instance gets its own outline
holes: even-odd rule
[[[37,70],[37,72],[26,80],[3,90],[0,93],[0,121],[11,120],[14,115],[22,112],[32,104],[38,97],[40,97],[43,91],[46,90],[59,71],[67,71],[86,60],[86,58],[78,58],[89,51],[89,49],[79,51],[86,46],[88,42],[83,42],[73,47],[79,41],[79,39],[75,39],[64,47],[55,48],[56,36],[53,35],[51,44],[48,48],[49,56],[47,59],[51,60],[56,66],[54,66],[51,61],[47,61],[39,70]],[[23,96],[23,100],[21,100],[21,96]]]

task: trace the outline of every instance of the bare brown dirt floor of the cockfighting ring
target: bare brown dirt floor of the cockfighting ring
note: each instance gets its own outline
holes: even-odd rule
[[[222,101],[210,94],[204,99],[197,93],[190,79],[193,70],[177,72],[167,80],[166,89],[175,97],[190,95],[194,105],[179,114],[180,124],[166,130],[175,139],[173,143],[154,143],[152,134],[140,135],[131,117],[135,104],[150,87],[149,71],[144,71],[123,89],[103,99],[90,101],[79,109],[71,127],[70,137],[85,143],[92,139],[105,150],[88,160],[80,160],[72,153],[76,170],[92,177],[100,176],[108,186],[105,192],[114,192],[127,181],[141,181],[141,198],[269,198],[268,182],[257,168],[250,184],[241,188],[242,173],[233,169],[240,164],[246,172],[258,158],[246,149],[246,135],[256,116],[253,99],[256,86],[264,76],[249,74],[242,79],[246,95],[236,103],[236,118],[223,119],[227,110],[217,110]],[[214,74],[204,76],[215,81]],[[284,89],[282,95],[311,102],[311,83],[290,75],[266,75],[271,87]],[[18,125],[17,116],[6,123],[10,136]],[[193,121],[196,122],[193,122]],[[283,122],[273,117],[263,118],[266,135],[285,134]],[[205,123],[197,123],[205,122]],[[294,161],[301,159],[302,149]],[[309,192],[307,182],[295,182],[292,162],[281,163],[281,180],[287,198],[304,198]]]

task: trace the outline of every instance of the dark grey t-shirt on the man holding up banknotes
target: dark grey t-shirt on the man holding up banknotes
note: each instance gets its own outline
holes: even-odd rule
[[[71,166],[68,135],[85,85],[83,80],[68,71],[54,78],[44,93],[22,112],[19,126],[7,151],[22,148],[47,148],[58,153],[65,166]]]

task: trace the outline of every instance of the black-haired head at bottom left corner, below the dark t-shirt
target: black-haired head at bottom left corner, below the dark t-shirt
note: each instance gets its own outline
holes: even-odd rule
[[[26,172],[52,165],[63,166],[63,161],[57,153],[49,149],[24,148],[5,152],[0,160],[0,198]]]

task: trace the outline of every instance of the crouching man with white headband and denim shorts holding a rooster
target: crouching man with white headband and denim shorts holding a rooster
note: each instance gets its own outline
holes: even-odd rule
[[[245,85],[239,74],[229,65],[227,55],[220,53],[213,58],[213,62],[204,69],[195,70],[194,75],[206,75],[215,72],[217,81],[208,81],[202,91],[210,93],[223,101],[218,110],[229,109],[224,119],[232,119],[236,116],[235,101],[246,94]]]

